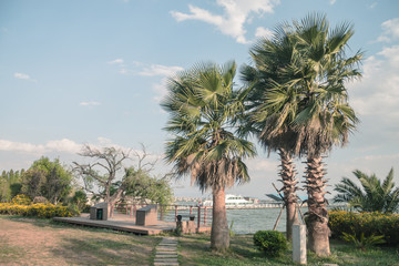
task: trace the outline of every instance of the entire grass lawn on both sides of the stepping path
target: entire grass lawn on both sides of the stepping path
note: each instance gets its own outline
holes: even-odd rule
[[[178,239],[181,265],[294,265],[291,250],[279,258],[265,257],[252,235],[236,235],[231,252],[209,252],[209,235],[186,235]],[[137,236],[115,231],[73,226],[0,215],[0,265],[152,265],[162,236]],[[308,254],[308,265],[398,265],[399,248],[377,247],[367,252],[331,241],[332,255]]]

